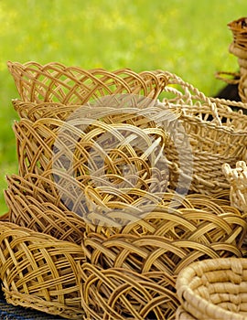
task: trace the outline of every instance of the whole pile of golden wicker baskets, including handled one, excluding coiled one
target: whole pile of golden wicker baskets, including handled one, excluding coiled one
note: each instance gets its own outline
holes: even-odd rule
[[[243,112],[162,70],[8,68],[21,98],[19,173],[7,176],[0,222],[9,303],[70,319],[173,319],[179,272],[243,257],[247,221],[222,171],[246,156]]]

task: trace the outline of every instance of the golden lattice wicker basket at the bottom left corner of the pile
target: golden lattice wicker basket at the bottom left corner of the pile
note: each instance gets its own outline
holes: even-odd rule
[[[81,246],[0,222],[0,278],[7,303],[81,319],[77,264]]]

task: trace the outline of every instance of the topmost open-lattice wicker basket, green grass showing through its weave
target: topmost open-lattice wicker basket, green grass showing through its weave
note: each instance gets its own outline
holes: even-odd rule
[[[108,71],[67,67],[58,62],[41,65],[29,61],[8,61],[21,100],[83,104],[99,97],[134,93],[156,99],[166,85],[166,76],[158,71],[136,73],[131,69]]]

